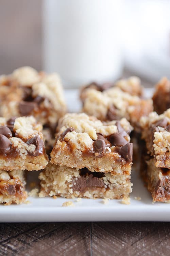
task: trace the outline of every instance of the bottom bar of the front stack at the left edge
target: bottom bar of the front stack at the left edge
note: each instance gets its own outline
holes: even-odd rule
[[[27,199],[22,170],[0,171],[0,203],[21,204]]]

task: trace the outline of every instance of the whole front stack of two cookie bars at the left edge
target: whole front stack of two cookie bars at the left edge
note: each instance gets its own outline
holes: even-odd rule
[[[24,170],[44,169],[48,163],[42,125],[34,117],[0,118],[0,203],[27,198]]]

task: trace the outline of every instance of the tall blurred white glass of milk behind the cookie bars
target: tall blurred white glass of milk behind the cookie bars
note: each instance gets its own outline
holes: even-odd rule
[[[120,0],[44,0],[44,70],[65,87],[122,72]]]

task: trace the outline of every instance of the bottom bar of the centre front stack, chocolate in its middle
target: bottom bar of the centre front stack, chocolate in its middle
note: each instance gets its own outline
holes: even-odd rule
[[[90,172],[87,168],[68,168],[51,163],[40,173],[39,179],[41,180],[39,197],[120,199],[129,196],[133,185],[131,176],[127,174]]]

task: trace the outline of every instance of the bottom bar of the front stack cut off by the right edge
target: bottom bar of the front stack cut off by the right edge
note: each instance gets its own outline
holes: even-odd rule
[[[170,200],[170,170],[156,168],[154,159],[148,155],[143,155],[141,162],[141,175],[151,192],[153,202],[168,202]]]

